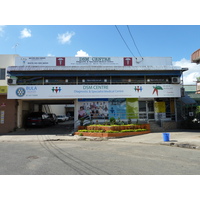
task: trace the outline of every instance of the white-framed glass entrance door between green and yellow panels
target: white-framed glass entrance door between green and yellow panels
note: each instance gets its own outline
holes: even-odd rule
[[[154,120],[154,101],[139,101],[139,119]]]

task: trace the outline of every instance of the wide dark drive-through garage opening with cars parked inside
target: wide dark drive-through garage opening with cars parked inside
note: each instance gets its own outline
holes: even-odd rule
[[[28,125],[28,117],[32,112],[43,112],[45,116],[49,116],[44,128],[41,129],[36,123]],[[74,129],[74,100],[18,100],[18,127],[25,128],[32,134],[69,134]]]

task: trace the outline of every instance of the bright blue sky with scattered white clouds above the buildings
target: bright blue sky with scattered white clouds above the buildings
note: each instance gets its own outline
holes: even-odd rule
[[[199,36],[199,25],[1,25],[0,54],[172,57],[173,65],[189,69],[184,84],[195,84],[200,66],[190,56]]]

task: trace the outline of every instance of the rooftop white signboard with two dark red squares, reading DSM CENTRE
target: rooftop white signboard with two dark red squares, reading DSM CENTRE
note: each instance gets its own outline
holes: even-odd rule
[[[144,70],[160,66],[161,69],[175,69],[169,57],[16,57],[15,66],[134,66],[143,67]]]

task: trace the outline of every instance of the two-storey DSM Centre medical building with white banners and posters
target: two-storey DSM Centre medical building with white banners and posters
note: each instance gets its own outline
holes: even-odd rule
[[[74,104],[74,121],[111,117],[173,122],[180,116],[182,73],[171,57],[16,57],[8,99],[17,100],[17,127],[44,104]]]

